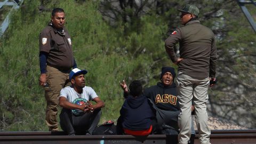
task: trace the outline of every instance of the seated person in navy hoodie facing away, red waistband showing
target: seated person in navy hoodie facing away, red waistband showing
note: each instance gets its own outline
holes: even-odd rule
[[[148,135],[153,130],[155,111],[142,94],[140,81],[129,85],[130,94],[124,101],[118,118],[119,134]],[[121,132],[120,132],[121,131]]]

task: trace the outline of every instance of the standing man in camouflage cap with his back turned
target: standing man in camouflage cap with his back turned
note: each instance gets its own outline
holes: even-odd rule
[[[217,49],[211,29],[197,20],[199,9],[187,4],[183,7],[180,20],[182,27],[165,40],[165,49],[172,62],[179,65],[177,76],[179,115],[179,143],[187,143],[191,134],[191,105],[195,106],[196,125],[199,139],[203,144],[210,143],[210,129],[207,125],[206,102],[209,80],[214,81],[217,62]],[[175,44],[180,44],[180,58],[174,53]],[[212,86],[212,85],[210,85]]]

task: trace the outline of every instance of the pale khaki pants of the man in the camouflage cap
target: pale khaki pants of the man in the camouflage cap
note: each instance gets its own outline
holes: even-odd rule
[[[207,125],[208,115],[206,102],[208,100],[209,77],[195,78],[178,72],[177,76],[178,100],[181,113],[178,124],[180,128],[179,143],[188,143],[191,135],[191,105],[195,105],[196,126],[199,140],[202,144],[210,144],[211,131]]]

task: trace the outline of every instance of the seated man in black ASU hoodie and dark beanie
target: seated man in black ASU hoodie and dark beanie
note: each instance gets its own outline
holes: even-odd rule
[[[157,125],[153,131],[154,134],[178,135],[178,116],[180,114],[179,102],[177,100],[177,87],[173,82],[175,70],[172,67],[162,67],[160,76],[161,82],[157,85],[150,86],[144,90],[144,95],[150,99],[156,110]],[[120,83],[124,90],[124,97],[127,98],[129,90],[125,81]],[[194,106],[191,107],[191,111]],[[189,143],[194,143],[195,130],[194,125],[191,127],[192,134]],[[178,142],[178,141],[177,141]]]

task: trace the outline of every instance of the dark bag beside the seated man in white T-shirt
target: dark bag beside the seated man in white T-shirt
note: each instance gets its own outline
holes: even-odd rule
[[[112,121],[107,121],[98,125],[92,135],[116,135],[116,125]]]

